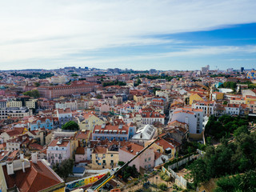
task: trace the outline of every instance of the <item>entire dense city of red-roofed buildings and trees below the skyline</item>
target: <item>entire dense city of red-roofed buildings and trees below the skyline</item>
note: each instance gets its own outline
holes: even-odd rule
[[[1,191],[254,189],[255,75],[2,70]]]

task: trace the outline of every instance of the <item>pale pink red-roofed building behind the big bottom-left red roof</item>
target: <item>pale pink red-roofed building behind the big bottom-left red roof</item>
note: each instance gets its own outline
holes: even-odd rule
[[[70,158],[70,141],[62,139],[52,140],[46,154],[51,166],[57,162],[61,163],[63,160]]]

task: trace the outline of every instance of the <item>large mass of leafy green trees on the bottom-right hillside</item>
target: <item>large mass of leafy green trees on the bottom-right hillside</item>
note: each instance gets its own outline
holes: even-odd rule
[[[256,132],[239,134],[234,142],[222,139],[220,145],[206,147],[203,158],[190,166],[190,177],[197,186],[210,178],[220,178],[226,174],[238,174],[254,170],[256,167]]]

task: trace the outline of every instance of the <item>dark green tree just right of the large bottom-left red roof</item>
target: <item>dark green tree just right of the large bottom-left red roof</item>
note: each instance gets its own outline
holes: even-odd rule
[[[60,164],[58,162],[54,164],[53,170],[66,182],[66,178],[68,178],[70,174],[73,174],[73,167],[74,159],[69,158],[62,161]]]

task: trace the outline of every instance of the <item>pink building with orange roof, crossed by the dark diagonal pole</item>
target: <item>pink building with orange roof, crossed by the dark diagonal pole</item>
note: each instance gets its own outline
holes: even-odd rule
[[[130,143],[128,146],[123,146],[119,149],[119,162],[128,162],[139,151],[143,150],[143,146],[135,143]],[[150,148],[144,151],[138,158],[135,158],[133,162],[130,162],[129,166],[135,166],[139,171],[140,167],[143,169],[154,168],[154,149]]]

